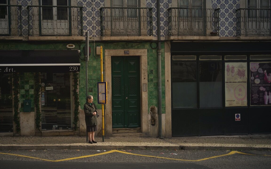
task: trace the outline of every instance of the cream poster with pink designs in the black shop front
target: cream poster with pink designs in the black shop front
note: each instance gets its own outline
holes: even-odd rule
[[[247,106],[247,63],[225,63],[225,106]]]

